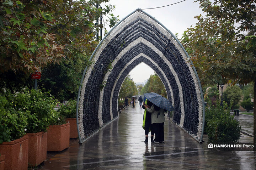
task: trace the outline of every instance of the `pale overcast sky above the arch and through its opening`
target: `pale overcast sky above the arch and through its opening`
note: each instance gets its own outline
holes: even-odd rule
[[[119,19],[121,20],[137,8],[160,7],[179,1],[182,0],[110,0],[110,4],[116,5],[116,9],[112,13],[114,16],[119,15]],[[182,33],[188,27],[191,25],[195,26],[197,19],[194,19],[194,16],[202,14],[199,3],[193,1],[186,0],[175,5],[144,11],[155,17],[173,34],[178,33],[178,38],[181,38]],[[133,81],[139,83],[144,82],[151,74],[154,74],[154,70],[145,63],[140,63],[130,74],[132,75]]]

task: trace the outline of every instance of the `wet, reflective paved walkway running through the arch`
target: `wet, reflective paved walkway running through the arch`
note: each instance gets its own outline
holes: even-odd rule
[[[70,140],[62,152],[48,152],[41,170],[256,169],[254,151],[207,148],[166,118],[165,143],[144,143],[143,109],[129,107],[82,144]],[[242,136],[242,142],[252,137]],[[207,139],[206,139],[207,141]]]

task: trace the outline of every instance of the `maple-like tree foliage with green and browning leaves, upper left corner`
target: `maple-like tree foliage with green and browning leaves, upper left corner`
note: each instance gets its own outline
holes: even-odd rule
[[[114,6],[95,8],[109,0],[0,1],[0,71],[33,73],[59,63],[74,51],[89,55],[97,44],[94,25]],[[118,18],[110,17],[112,24]]]

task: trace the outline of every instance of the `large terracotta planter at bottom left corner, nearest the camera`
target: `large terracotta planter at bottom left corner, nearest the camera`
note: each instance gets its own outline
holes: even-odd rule
[[[5,155],[5,170],[27,170],[28,136],[0,145],[0,153]]]

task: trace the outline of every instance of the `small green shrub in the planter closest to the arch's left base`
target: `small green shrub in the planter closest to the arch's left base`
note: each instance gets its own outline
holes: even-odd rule
[[[66,118],[76,118],[76,100],[69,100],[66,104],[62,104],[58,112]]]

